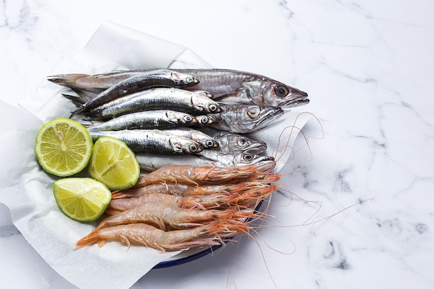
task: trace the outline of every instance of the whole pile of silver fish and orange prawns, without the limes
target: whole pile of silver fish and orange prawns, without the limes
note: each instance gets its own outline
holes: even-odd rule
[[[71,118],[93,141],[114,137],[136,154],[142,176],[113,191],[105,218],[77,247],[116,239],[159,252],[223,245],[246,234],[279,186],[265,142],[249,137],[308,95],[254,73],[146,69],[61,74]]]

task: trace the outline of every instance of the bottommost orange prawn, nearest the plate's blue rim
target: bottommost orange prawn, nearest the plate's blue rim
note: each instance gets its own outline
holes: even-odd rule
[[[77,241],[76,247],[98,243],[103,247],[107,239],[119,239],[130,247],[130,242],[153,247],[158,252],[176,251],[198,246],[223,244],[223,238],[236,236],[247,230],[243,222],[215,220],[193,229],[163,231],[145,223],[119,225],[95,229]]]

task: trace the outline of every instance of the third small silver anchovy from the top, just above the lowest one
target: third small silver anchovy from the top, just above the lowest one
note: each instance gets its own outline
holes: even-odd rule
[[[184,112],[148,110],[146,112],[125,114],[96,125],[87,126],[87,130],[93,132],[103,130],[149,130],[191,126],[196,123],[197,120],[194,116]]]

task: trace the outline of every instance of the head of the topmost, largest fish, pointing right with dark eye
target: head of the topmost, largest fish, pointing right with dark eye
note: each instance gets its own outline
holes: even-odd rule
[[[270,78],[259,78],[242,82],[252,103],[270,107],[296,107],[309,103],[306,92]]]

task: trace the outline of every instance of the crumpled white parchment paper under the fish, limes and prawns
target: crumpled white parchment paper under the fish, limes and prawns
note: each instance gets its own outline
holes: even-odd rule
[[[114,69],[211,68],[190,49],[107,22],[93,35],[81,53],[55,67],[59,73],[101,73]],[[158,263],[179,252],[158,253],[155,249],[108,242],[76,249],[77,240],[94,229],[64,216],[53,198],[55,177],[37,164],[33,146],[43,123],[58,116],[68,117],[73,105],[61,96],[62,87],[42,80],[19,107],[0,101],[0,139],[3,166],[0,170],[0,202],[10,209],[12,221],[42,258],[62,277],[82,289],[127,289]],[[275,154],[276,134],[284,128],[291,145],[309,114],[284,116],[270,128],[255,133],[268,143],[268,154]],[[295,129],[294,129],[295,128]],[[283,159],[290,158],[286,150]],[[279,153],[278,153],[279,155]],[[284,161],[279,161],[279,168]],[[126,274],[125,274],[126,272]]]

